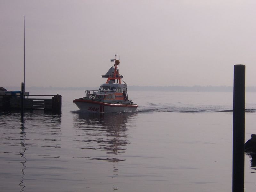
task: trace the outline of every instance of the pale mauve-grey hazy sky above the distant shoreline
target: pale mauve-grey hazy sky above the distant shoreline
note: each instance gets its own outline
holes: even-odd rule
[[[0,0],[0,87],[97,87],[120,57],[129,85],[256,86],[254,0]]]

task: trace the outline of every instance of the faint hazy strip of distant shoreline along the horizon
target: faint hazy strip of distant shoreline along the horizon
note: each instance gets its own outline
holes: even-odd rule
[[[4,87],[8,91],[20,90],[21,87]],[[99,87],[26,87],[32,90],[98,90]],[[131,91],[178,91],[178,92],[233,92],[233,86],[128,86]],[[246,87],[246,92],[256,92],[256,87]]]

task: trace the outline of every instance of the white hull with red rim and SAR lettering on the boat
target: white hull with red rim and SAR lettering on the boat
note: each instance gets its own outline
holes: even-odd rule
[[[73,101],[81,111],[91,113],[120,113],[136,111],[136,104],[116,104],[93,101],[87,99],[75,99]]]

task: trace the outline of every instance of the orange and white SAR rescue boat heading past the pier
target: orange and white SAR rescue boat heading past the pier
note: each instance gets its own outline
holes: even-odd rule
[[[110,61],[115,61],[115,64],[106,75],[102,75],[102,78],[108,78],[106,83],[102,84],[99,90],[86,90],[85,97],[73,101],[80,111],[94,113],[136,111],[138,105],[128,99],[127,84],[122,79],[123,75],[120,75],[118,71],[120,61],[117,59]],[[121,84],[121,81],[124,84]]]

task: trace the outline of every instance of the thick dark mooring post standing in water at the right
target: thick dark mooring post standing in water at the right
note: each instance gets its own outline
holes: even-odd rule
[[[245,65],[234,65],[232,191],[244,191]]]

